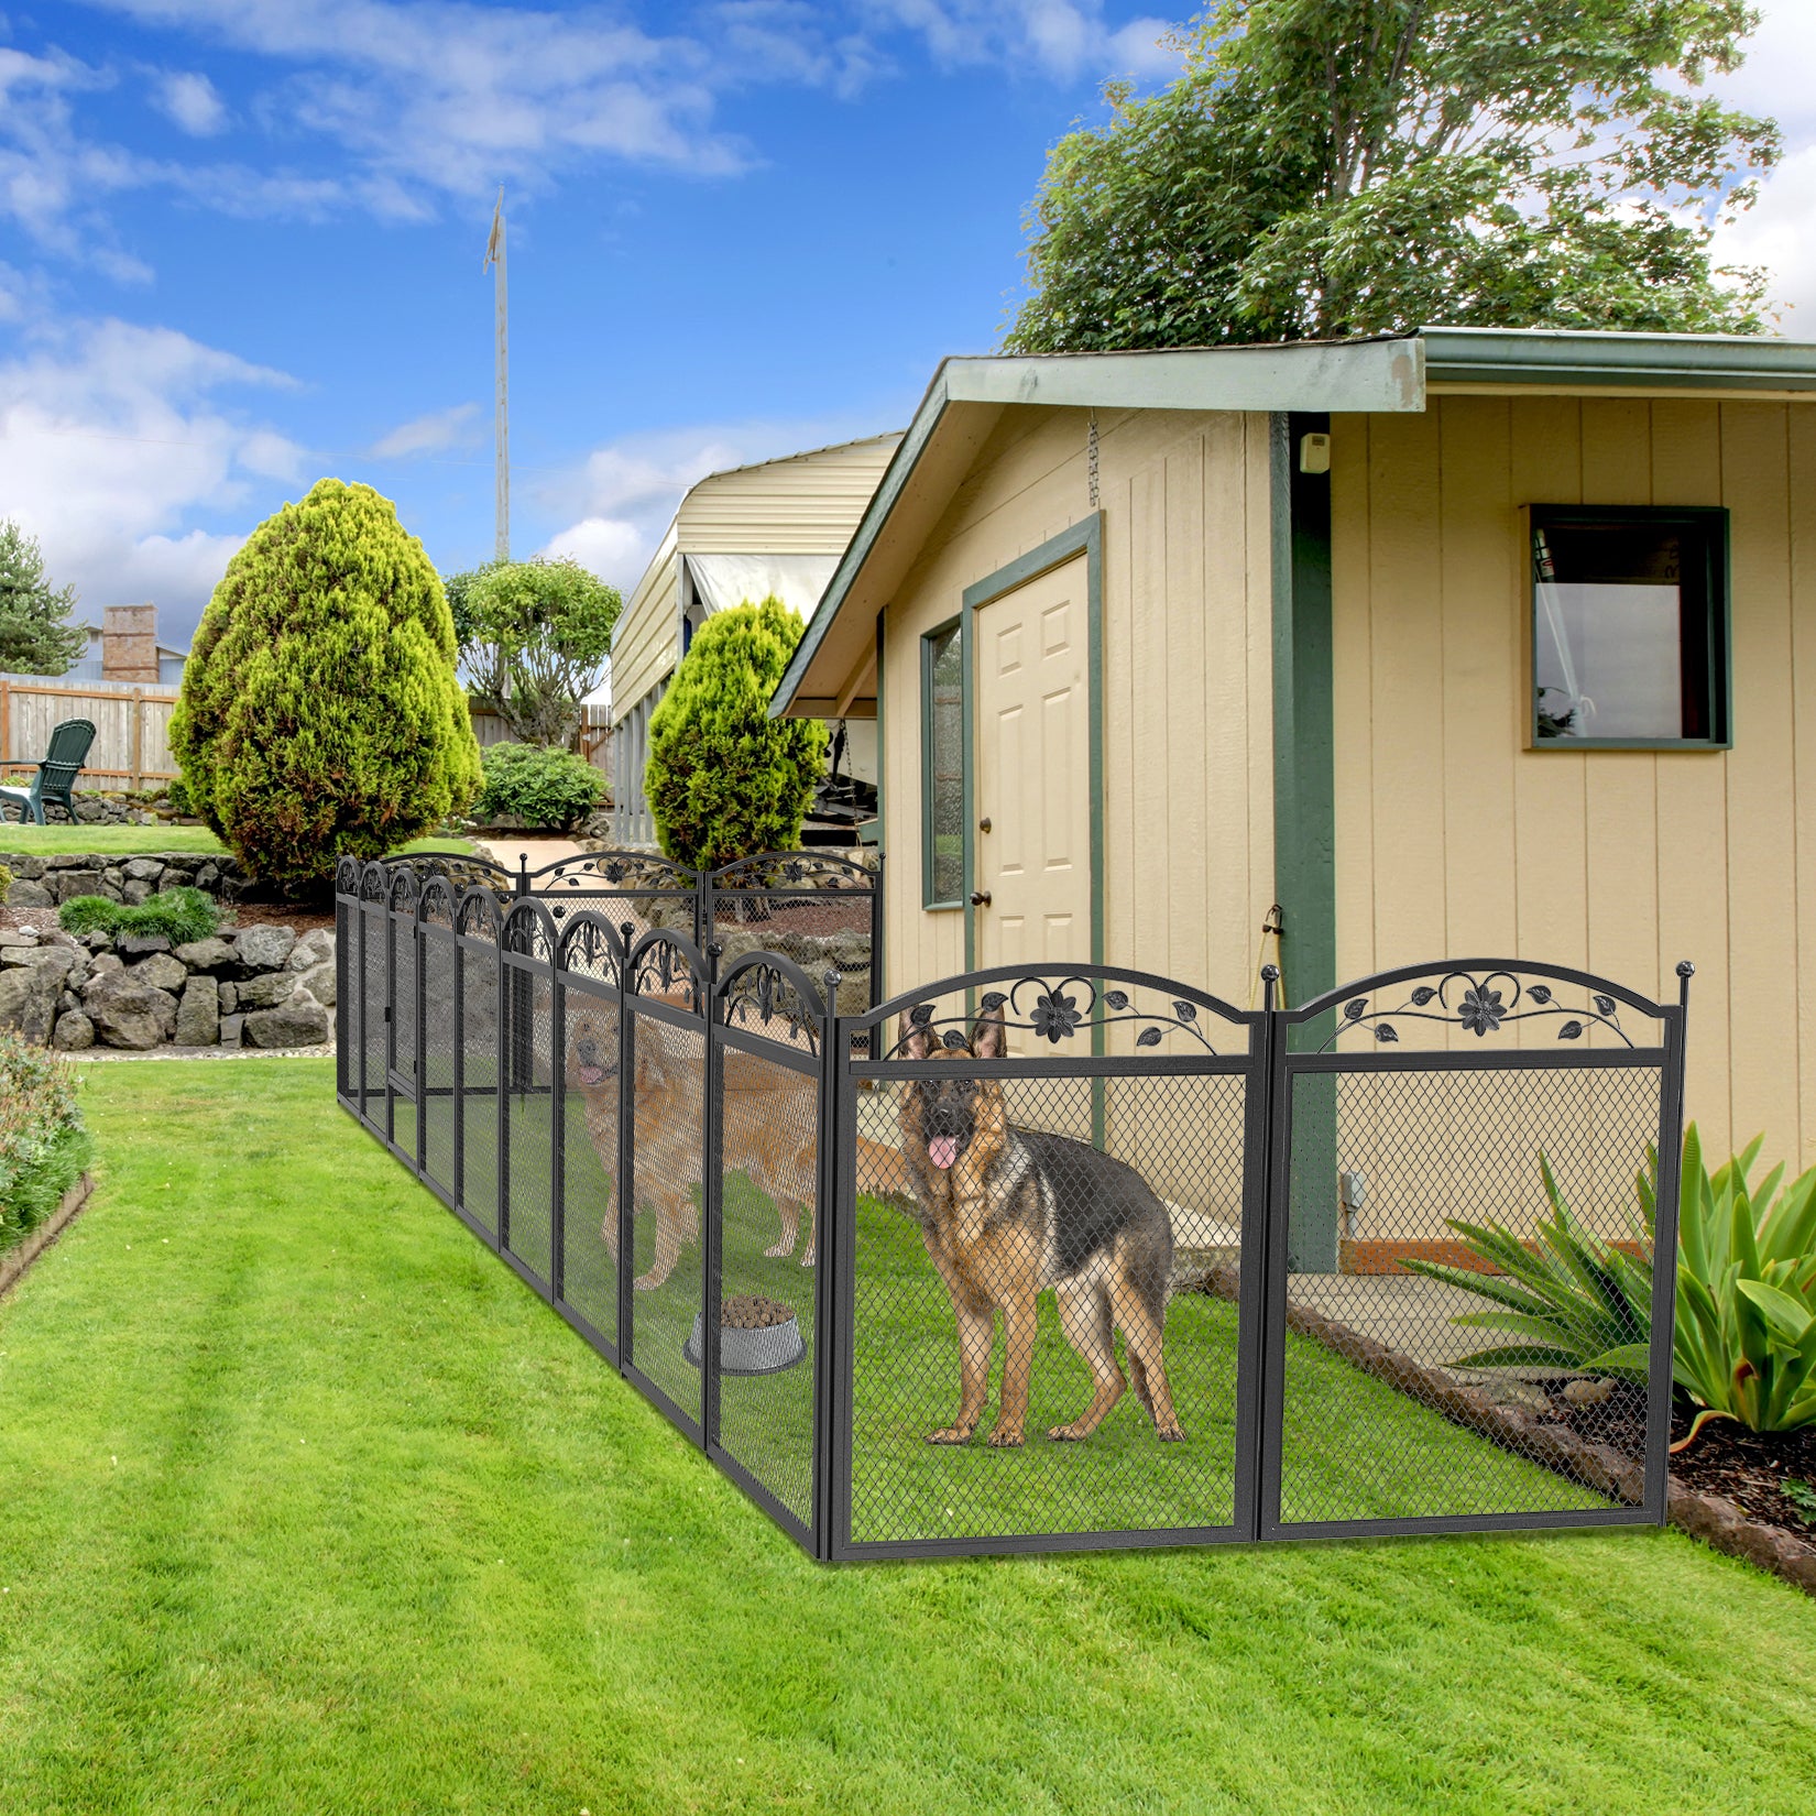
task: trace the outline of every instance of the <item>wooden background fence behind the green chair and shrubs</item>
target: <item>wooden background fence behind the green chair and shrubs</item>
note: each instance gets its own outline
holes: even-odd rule
[[[94,745],[82,766],[82,786],[145,788],[171,781],[178,774],[169,745],[176,696],[178,688],[149,681],[143,686],[104,686],[0,676],[0,774],[35,768],[58,721],[93,719]],[[583,714],[581,755],[605,770],[608,708],[585,706]],[[501,745],[510,737],[505,721],[489,712],[474,712],[472,728],[481,745]]]

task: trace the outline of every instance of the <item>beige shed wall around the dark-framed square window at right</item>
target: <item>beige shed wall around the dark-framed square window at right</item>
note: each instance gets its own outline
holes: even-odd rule
[[[1338,977],[1693,959],[1687,1113],[1816,1162],[1816,405],[1338,416],[1331,503]],[[1729,507],[1732,750],[1525,748],[1527,503]]]

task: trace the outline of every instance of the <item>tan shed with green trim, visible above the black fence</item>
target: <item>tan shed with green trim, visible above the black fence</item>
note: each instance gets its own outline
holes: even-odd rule
[[[1816,1162],[1816,345],[950,360],[775,710],[879,719],[888,995],[1691,959],[1687,1113]]]

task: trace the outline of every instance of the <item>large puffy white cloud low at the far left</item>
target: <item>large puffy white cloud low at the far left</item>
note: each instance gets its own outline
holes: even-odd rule
[[[169,329],[35,318],[0,363],[4,510],[42,541],[51,574],[74,581],[84,616],[149,599],[162,634],[185,641],[243,539],[189,519],[243,507],[254,479],[291,479],[303,461],[222,394],[289,383]]]

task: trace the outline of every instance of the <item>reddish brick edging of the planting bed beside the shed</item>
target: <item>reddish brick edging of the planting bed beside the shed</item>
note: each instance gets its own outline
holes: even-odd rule
[[[1182,1278],[1179,1286],[1186,1288],[1188,1282]],[[1228,1264],[1191,1269],[1191,1288],[1217,1298],[1237,1298],[1237,1286],[1239,1273]],[[1413,1395],[1453,1424],[1480,1433],[1502,1449],[1569,1475],[1611,1500],[1636,1505],[1643,1498],[1642,1466],[1607,1444],[1589,1444],[1569,1426],[1540,1420],[1524,1406],[1496,1406],[1480,1389],[1455,1380],[1444,1369],[1415,1362],[1309,1306],[1288,1300],[1286,1327],[1322,1344],[1364,1375]],[[1805,1594],[1816,1596],[1816,1545],[1747,1518],[1734,1502],[1673,1480],[1665,1496],[1665,1518],[1712,1551],[1745,1558]]]

